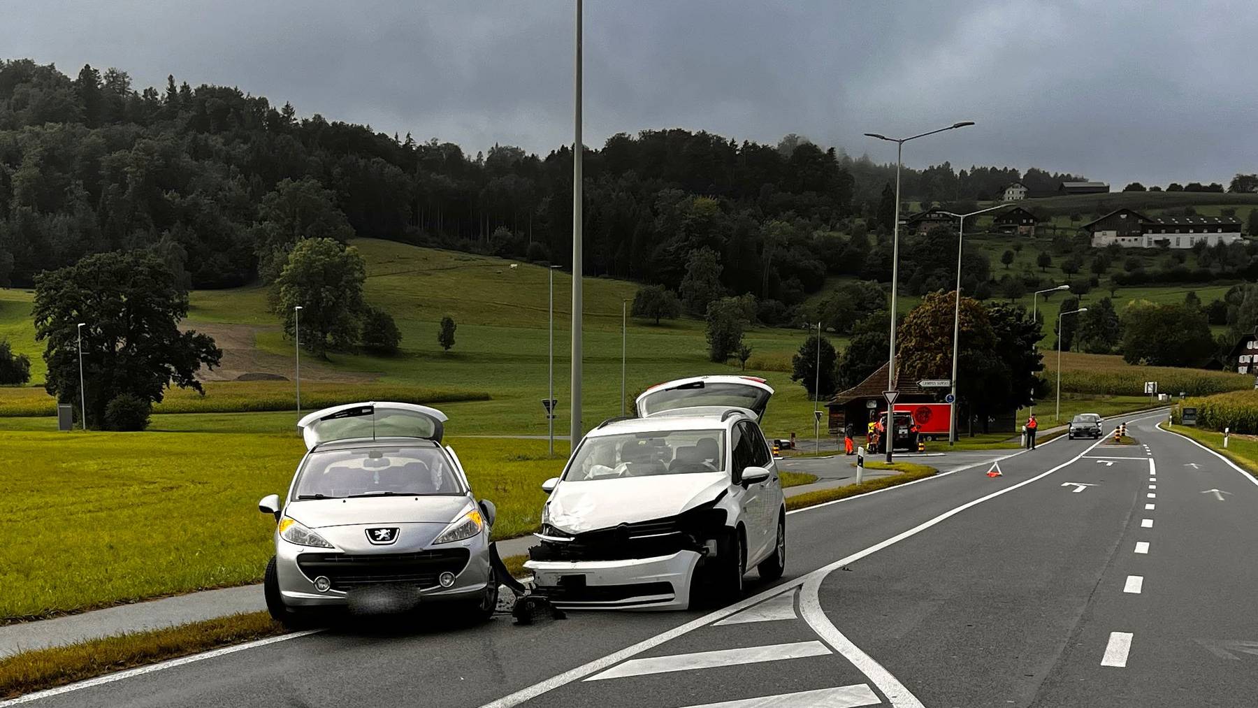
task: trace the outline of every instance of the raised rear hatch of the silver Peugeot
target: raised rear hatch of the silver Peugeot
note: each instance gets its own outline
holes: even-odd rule
[[[442,441],[445,414],[416,404],[346,404],[317,410],[297,421],[306,449],[333,440],[416,438]]]

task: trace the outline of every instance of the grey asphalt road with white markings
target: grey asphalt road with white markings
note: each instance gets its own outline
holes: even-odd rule
[[[794,512],[728,607],[362,624],[33,704],[1253,707],[1258,483],[1156,420]]]

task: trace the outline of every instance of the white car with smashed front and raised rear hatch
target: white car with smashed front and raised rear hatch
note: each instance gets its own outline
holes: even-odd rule
[[[653,386],[639,418],[581,440],[542,489],[541,541],[525,563],[559,607],[677,610],[781,577],[786,507],[759,420],[774,390],[750,376]]]

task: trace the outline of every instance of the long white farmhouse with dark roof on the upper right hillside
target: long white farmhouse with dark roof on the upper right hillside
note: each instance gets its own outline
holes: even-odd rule
[[[1116,209],[1082,226],[1092,234],[1092,245],[1103,248],[1193,248],[1240,240],[1240,220],[1218,216],[1154,216],[1133,209]]]

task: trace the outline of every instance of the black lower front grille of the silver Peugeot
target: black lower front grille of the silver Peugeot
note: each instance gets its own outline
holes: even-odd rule
[[[468,565],[467,548],[419,551],[415,553],[302,553],[297,567],[306,577],[327,576],[333,590],[353,590],[367,585],[414,585],[435,587],[443,572],[459,575]]]

